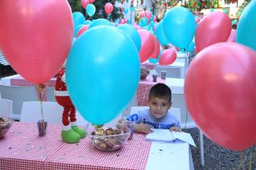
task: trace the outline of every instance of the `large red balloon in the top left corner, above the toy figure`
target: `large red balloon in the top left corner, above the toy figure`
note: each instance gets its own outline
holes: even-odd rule
[[[67,58],[74,35],[63,0],[0,1],[0,48],[26,80],[49,81]]]

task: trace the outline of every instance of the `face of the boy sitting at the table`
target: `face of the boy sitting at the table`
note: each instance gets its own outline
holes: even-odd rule
[[[171,108],[171,102],[165,98],[150,97],[148,104],[151,114],[157,119],[163,118],[168,112],[168,109]]]

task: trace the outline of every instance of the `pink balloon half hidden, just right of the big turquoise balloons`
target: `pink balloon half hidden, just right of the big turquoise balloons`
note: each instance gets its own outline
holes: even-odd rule
[[[139,50],[140,62],[145,62],[154,51],[155,40],[153,34],[148,30],[138,30],[139,36],[141,38],[141,48]]]

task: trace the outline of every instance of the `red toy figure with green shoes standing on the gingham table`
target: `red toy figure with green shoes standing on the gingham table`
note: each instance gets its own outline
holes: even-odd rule
[[[66,74],[65,64],[63,68],[59,70],[57,74],[55,84],[55,97],[58,104],[62,105],[63,110],[63,130],[61,132],[62,140],[66,143],[78,143],[81,138],[84,138],[85,131],[77,126],[76,109],[74,104],[70,100],[70,96],[66,87]]]

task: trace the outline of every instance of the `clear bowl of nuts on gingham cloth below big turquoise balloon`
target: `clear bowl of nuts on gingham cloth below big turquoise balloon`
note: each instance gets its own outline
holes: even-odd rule
[[[92,145],[101,151],[116,151],[124,147],[131,129],[122,124],[116,126],[96,126],[87,124],[85,131]]]

